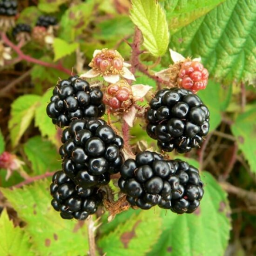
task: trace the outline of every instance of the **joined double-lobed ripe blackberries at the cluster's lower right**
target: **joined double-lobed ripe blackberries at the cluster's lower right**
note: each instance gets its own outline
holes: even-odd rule
[[[199,170],[179,159],[163,160],[145,151],[128,159],[120,170],[120,190],[127,194],[132,206],[147,210],[154,205],[179,214],[191,213],[199,207],[203,182]]]

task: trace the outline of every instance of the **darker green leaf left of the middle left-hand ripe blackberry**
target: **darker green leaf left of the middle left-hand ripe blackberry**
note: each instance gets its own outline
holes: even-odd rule
[[[60,155],[50,141],[40,136],[30,138],[24,145],[24,151],[32,164],[33,174],[44,174],[61,169]],[[40,152],[38,152],[40,151]]]

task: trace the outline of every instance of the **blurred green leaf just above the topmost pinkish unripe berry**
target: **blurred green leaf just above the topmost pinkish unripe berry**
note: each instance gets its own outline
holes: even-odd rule
[[[100,40],[124,39],[127,35],[134,33],[134,26],[129,17],[118,15],[113,19],[106,19],[97,24],[97,32],[93,37]],[[117,42],[116,42],[117,43]]]

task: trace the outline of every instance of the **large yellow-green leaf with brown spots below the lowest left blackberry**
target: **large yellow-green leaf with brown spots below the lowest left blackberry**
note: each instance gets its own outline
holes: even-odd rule
[[[68,221],[51,206],[50,181],[38,181],[23,189],[3,189],[10,201],[26,221],[25,230],[31,237],[37,255],[86,255],[89,250],[86,225]]]

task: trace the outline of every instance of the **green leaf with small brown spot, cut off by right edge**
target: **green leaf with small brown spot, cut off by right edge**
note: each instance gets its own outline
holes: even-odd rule
[[[255,130],[256,107],[237,116],[232,125],[232,134],[237,138],[239,149],[244,153],[250,169],[256,173],[256,130]]]

